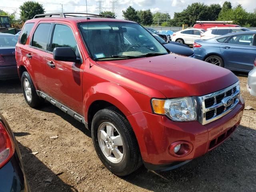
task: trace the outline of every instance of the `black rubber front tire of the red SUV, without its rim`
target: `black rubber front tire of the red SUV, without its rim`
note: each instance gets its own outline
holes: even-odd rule
[[[120,162],[113,163],[103,154],[98,139],[98,129],[104,122],[113,124],[122,138],[123,158]],[[92,119],[92,141],[101,162],[112,173],[118,176],[126,176],[142,165],[142,158],[138,147],[136,136],[128,120],[116,108],[110,107],[99,110]]]

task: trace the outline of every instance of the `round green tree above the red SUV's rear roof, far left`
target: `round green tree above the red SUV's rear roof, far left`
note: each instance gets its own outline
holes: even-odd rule
[[[44,7],[42,4],[34,1],[26,1],[20,6],[20,18],[25,22],[32,19],[37,14],[43,14]]]

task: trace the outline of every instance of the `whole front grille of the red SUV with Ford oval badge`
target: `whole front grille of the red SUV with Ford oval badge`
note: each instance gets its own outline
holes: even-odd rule
[[[228,114],[238,104],[239,97],[239,81],[223,90],[199,97],[202,104],[202,124],[208,124]]]

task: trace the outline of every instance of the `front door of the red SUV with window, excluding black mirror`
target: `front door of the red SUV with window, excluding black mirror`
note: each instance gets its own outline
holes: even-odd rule
[[[72,26],[64,23],[55,24],[50,42],[50,51],[46,53],[46,74],[48,94],[61,104],[82,115],[82,78],[85,62],[78,64],[57,61],[54,60],[52,53],[56,47],[71,47],[76,55],[82,58],[77,42]]]

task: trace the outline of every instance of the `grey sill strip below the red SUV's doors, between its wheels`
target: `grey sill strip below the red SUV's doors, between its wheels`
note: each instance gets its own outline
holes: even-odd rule
[[[43,99],[45,99],[46,101],[50,102],[51,104],[53,104],[54,106],[58,107],[60,110],[62,110],[63,112],[65,112],[66,114],[69,114],[70,116],[72,116],[74,119],[78,120],[79,122],[83,123],[85,125],[85,127],[87,129],[88,128],[88,123],[84,121],[84,117],[81,116],[80,114],[74,112],[72,109],[64,106],[63,104],[61,104],[60,102],[56,101],[55,99],[51,98],[50,96],[48,96],[47,94],[43,93],[42,91],[36,91],[36,93],[38,94],[38,96],[42,97]]]

